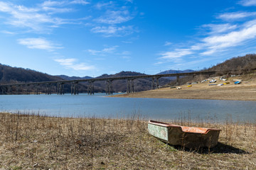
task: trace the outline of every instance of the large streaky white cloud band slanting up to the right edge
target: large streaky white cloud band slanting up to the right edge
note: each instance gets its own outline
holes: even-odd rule
[[[253,4],[252,1],[243,3]],[[256,4],[256,1],[254,1]],[[197,38],[193,45],[186,45],[186,48],[174,48],[161,52],[160,62],[181,60],[183,57],[207,57],[221,55],[224,51],[233,50],[234,47],[248,45],[256,38],[256,12],[233,12],[221,13],[216,18],[221,19],[221,23],[204,24],[202,28],[206,31],[204,38]],[[225,23],[223,23],[225,21]],[[238,21],[238,22],[236,22]],[[205,60],[198,60],[205,61]]]

